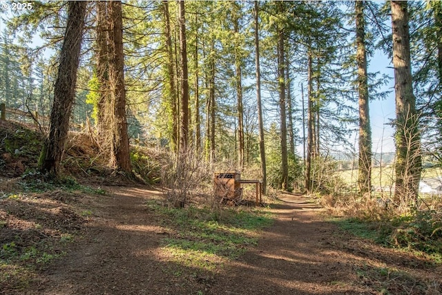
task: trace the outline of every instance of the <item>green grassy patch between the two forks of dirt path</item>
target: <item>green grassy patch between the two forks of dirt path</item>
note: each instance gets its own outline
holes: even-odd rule
[[[209,209],[188,207],[170,209],[148,204],[160,213],[164,226],[175,231],[164,238],[163,251],[174,263],[201,270],[213,270],[223,259],[236,259],[247,247],[256,245],[258,229],[273,220],[262,209]]]

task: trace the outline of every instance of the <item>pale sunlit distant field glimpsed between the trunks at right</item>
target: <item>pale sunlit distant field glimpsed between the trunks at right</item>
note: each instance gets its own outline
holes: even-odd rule
[[[345,170],[339,171],[338,175],[343,178],[343,180],[347,184],[356,184],[358,180],[358,170]],[[441,168],[427,168],[423,169],[422,177],[423,178],[437,178],[442,176]],[[394,169],[392,166],[386,167],[374,167],[372,169],[372,185],[374,187],[382,187],[390,186],[394,180]]]

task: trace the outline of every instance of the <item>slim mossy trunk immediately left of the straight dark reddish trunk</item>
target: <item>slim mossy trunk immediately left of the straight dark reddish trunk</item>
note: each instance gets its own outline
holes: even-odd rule
[[[178,134],[178,123],[177,123],[177,89],[175,86],[175,70],[174,70],[174,60],[173,60],[173,47],[172,47],[172,34],[171,34],[171,18],[169,15],[169,1],[163,1],[164,9],[164,21],[165,21],[165,33],[166,33],[166,50],[167,50],[167,74],[169,82],[169,99],[167,104],[169,108],[170,118],[169,129],[171,132],[171,147],[173,151],[177,151],[177,134]]]

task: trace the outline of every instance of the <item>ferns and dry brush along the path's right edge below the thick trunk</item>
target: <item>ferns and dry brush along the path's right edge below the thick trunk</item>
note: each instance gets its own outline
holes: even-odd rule
[[[412,207],[398,211],[376,199],[361,200],[327,196],[323,204],[329,207],[342,229],[356,236],[369,238],[378,244],[412,251],[419,256],[431,256],[442,263],[442,211],[440,204]],[[439,209],[438,209],[439,208]]]

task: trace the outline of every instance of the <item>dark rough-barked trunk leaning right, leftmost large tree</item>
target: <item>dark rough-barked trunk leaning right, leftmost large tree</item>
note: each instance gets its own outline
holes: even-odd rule
[[[54,86],[49,134],[39,159],[39,170],[57,177],[68,135],[70,114],[75,99],[75,84],[83,35],[86,1],[68,2],[68,21],[60,52],[60,63]]]

